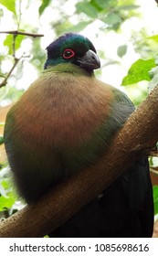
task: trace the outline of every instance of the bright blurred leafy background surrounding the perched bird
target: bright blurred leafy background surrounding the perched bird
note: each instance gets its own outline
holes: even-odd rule
[[[97,78],[125,91],[138,107],[158,80],[156,2],[0,0],[1,219],[24,207],[10,181],[3,140],[5,115],[43,70],[47,45],[67,32],[89,37],[101,60]],[[155,207],[153,236],[158,237],[158,158],[149,160]]]

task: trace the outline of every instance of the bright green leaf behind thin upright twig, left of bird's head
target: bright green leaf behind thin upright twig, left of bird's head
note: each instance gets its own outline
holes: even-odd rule
[[[18,48],[20,48],[21,46],[21,42],[23,41],[25,36],[23,35],[18,35],[16,36],[16,40],[15,40],[15,49],[17,50]],[[13,35],[7,35],[5,37],[5,41],[4,41],[4,46],[9,48],[9,52],[8,54],[12,55],[12,48],[13,48]]]

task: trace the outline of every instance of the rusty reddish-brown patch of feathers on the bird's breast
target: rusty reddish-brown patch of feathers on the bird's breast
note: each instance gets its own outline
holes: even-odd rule
[[[38,142],[76,146],[100,130],[111,101],[111,88],[94,79],[40,78],[16,104],[16,127]]]

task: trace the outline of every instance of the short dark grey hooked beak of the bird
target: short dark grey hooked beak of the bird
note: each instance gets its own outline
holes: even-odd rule
[[[88,50],[83,57],[78,58],[78,62],[80,67],[86,69],[100,69],[100,59],[98,55],[92,51],[91,49]]]

